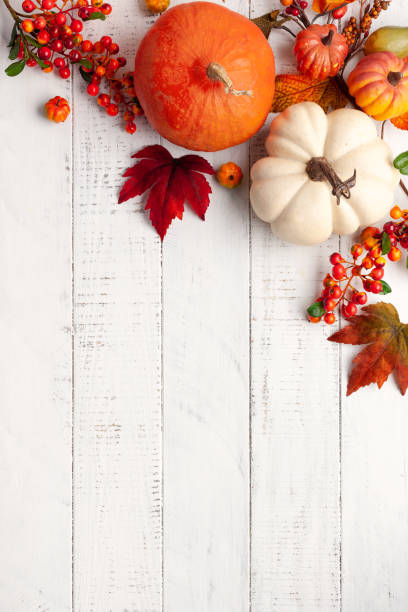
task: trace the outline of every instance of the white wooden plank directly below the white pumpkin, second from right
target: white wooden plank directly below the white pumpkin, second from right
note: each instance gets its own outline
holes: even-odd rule
[[[268,10],[252,3],[252,17]],[[291,40],[270,42],[293,72]],[[338,239],[289,245],[253,216],[251,242],[252,611],[339,610],[339,349],[305,320]]]

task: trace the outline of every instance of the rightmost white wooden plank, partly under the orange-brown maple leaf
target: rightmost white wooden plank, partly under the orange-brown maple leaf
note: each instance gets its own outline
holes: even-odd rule
[[[405,2],[393,0],[381,13],[381,25],[402,23],[404,16],[408,17]],[[406,132],[390,124],[385,140],[395,155],[407,149]],[[401,190],[395,201],[403,208],[408,205]],[[350,242],[343,242],[346,251]],[[404,259],[387,264],[385,279],[393,292],[381,299],[394,304],[407,322]],[[392,377],[381,391],[370,386],[346,398],[358,350],[342,347],[343,609],[404,612],[408,606],[407,398],[399,394]]]

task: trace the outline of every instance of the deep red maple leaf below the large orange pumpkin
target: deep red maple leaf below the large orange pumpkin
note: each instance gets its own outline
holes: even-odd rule
[[[145,210],[150,209],[151,222],[162,240],[173,219],[183,218],[184,201],[204,220],[211,187],[201,172],[215,172],[203,157],[175,158],[160,145],[146,147],[132,157],[141,161],[124,173],[129,178],[119,194],[119,204],[150,189]]]

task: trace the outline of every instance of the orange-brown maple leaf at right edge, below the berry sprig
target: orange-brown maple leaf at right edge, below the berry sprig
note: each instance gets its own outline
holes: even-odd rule
[[[400,322],[392,304],[378,302],[352,317],[350,325],[330,336],[332,342],[367,344],[354,358],[347,395],[377,383],[380,389],[391,372],[405,395],[408,387],[408,325]]]

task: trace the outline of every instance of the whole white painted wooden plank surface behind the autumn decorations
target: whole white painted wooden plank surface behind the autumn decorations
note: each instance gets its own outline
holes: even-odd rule
[[[142,5],[91,31],[109,23],[131,57]],[[384,21],[402,15],[393,0]],[[263,130],[206,154],[245,181],[212,181],[206,222],[186,207],[162,246],[143,198],[116,205],[158,136],[127,135],[79,81],[0,73],[0,609],[404,612],[407,400],[392,381],[346,398],[355,349],[304,320],[339,240],[289,246],[251,214]],[[58,127],[40,112],[57,93]],[[408,320],[403,266],[388,274]]]

